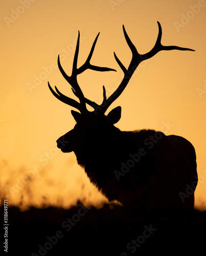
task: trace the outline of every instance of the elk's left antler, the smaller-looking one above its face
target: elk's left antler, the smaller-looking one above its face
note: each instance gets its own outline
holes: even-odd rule
[[[56,89],[56,92],[57,92],[56,93],[52,89],[52,87],[50,86],[50,83],[48,82],[49,89],[51,90],[51,92],[53,93],[53,95],[57,99],[59,99],[60,101],[66,103],[68,105],[73,106],[74,108],[78,109],[81,113],[84,113],[84,112],[87,111],[86,104],[85,104],[87,102],[86,102],[86,100],[84,98],[84,95],[83,95],[83,92],[82,92],[82,90],[81,90],[81,88],[80,88],[80,86],[77,82],[77,75],[81,74],[82,72],[84,72],[87,69],[95,70],[95,71],[101,71],[101,72],[116,71],[115,69],[110,69],[110,68],[106,68],[106,67],[98,67],[98,66],[94,66],[94,65],[90,64],[91,56],[93,55],[93,52],[95,50],[95,45],[96,45],[97,39],[99,37],[99,34],[100,33],[98,33],[98,35],[95,38],[95,41],[93,43],[93,46],[91,47],[90,53],[89,53],[86,61],[84,62],[84,64],[80,68],[77,68],[77,59],[78,59],[78,54],[79,54],[79,38],[80,38],[80,33],[78,31],[77,46],[76,46],[76,50],[75,50],[74,61],[73,61],[73,69],[72,69],[72,75],[71,76],[68,76],[65,73],[65,71],[63,70],[63,68],[61,66],[61,63],[60,63],[59,55],[58,55],[59,70],[60,70],[61,74],[63,75],[63,77],[66,79],[66,81],[71,84],[72,90],[73,90],[73,92],[76,96],[78,95],[77,97],[79,98],[80,103],[77,102],[76,100],[72,99],[72,98],[69,98],[69,97],[63,95],[55,86],[55,89]]]

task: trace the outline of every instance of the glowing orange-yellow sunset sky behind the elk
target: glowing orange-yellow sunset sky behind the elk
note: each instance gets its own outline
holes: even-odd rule
[[[75,120],[72,107],[58,101],[47,82],[74,97],[57,68],[57,56],[70,74],[78,30],[78,65],[100,32],[91,63],[118,72],[86,71],[78,77],[84,95],[100,103],[102,86],[108,97],[122,79],[113,51],[126,67],[131,59],[122,25],[138,51],[146,53],[156,41],[158,20],[163,45],[196,51],[163,51],[142,62],[107,113],[122,106],[116,124],[121,130],[155,129],[187,138],[196,149],[201,177],[195,203],[206,205],[206,1],[1,0],[0,13],[2,199],[22,207],[106,201],[74,153],[56,147],[56,139],[73,129]]]

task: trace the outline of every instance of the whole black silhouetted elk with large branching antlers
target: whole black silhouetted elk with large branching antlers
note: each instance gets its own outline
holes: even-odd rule
[[[77,76],[87,69],[94,71],[116,71],[111,68],[94,66],[90,63],[98,33],[84,64],[77,68],[80,33],[71,76],[68,76],[60,63],[58,67],[72,87],[74,100],[63,95],[56,87],[50,86],[52,94],[60,101],[79,110],[72,110],[76,121],[74,129],[57,140],[57,147],[64,153],[74,152],[77,162],[85,169],[93,183],[109,201],[118,200],[123,206],[138,209],[156,210],[165,207],[191,209],[194,207],[194,190],[197,185],[196,154],[193,145],[180,136],[166,136],[154,130],[121,131],[114,124],[121,118],[121,106],[106,110],[124,91],[138,65],[159,51],[194,51],[177,46],[163,46],[162,27],[158,24],[158,36],[154,47],[140,54],[123,25],[123,32],[132,58],[126,68],[114,52],[115,59],[124,72],[124,77],[115,92],[108,98],[103,86],[103,102],[97,104],[84,97]],[[94,111],[88,111],[86,104]],[[192,193],[188,186],[193,185]]]

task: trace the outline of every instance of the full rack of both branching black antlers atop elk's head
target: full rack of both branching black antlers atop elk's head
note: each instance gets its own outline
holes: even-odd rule
[[[127,35],[127,32],[124,28],[123,25],[123,32],[124,32],[124,36],[125,39],[127,41],[127,44],[132,52],[132,59],[130,61],[129,67],[128,69],[125,68],[125,66],[123,65],[123,63],[120,61],[120,59],[117,57],[116,53],[114,52],[115,55],[115,59],[118,62],[120,68],[122,69],[122,71],[124,72],[124,77],[122,82],[120,83],[119,87],[117,88],[117,90],[115,92],[113,92],[111,94],[111,96],[109,96],[109,98],[106,98],[106,91],[105,88],[103,86],[103,102],[101,105],[98,105],[97,103],[95,103],[94,101],[91,101],[87,98],[84,97],[81,88],[79,87],[79,84],[77,82],[77,75],[81,74],[82,72],[84,72],[87,69],[90,70],[95,70],[95,71],[116,71],[114,69],[110,69],[110,68],[105,68],[105,67],[98,67],[98,66],[94,66],[90,64],[90,59],[91,56],[93,55],[94,49],[95,49],[95,45],[98,39],[98,36],[100,33],[98,33],[98,35],[95,38],[95,41],[93,43],[93,46],[91,47],[90,53],[85,61],[85,63],[80,67],[77,68],[77,59],[78,59],[78,54],[79,54],[79,38],[80,38],[80,33],[78,32],[78,39],[77,39],[77,46],[76,46],[76,51],[75,51],[75,56],[74,56],[74,62],[73,62],[73,70],[72,70],[72,75],[68,76],[60,63],[60,59],[58,56],[58,67],[59,70],[61,72],[61,74],[63,75],[63,77],[66,79],[66,81],[68,83],[71,84],[72,86],[72,91],[75,94],[76,97],[79,98],[79,102],[77,102],[74,99],[71,99],[65,95],[63,95],[62,93],[59,92],[59,90],[55,87],[56,92],[51,88],[49,82],[49,88],[51,90],[51,92],[53,93],[53,95],[58,98],[59,100],[61,100],[62,102],[74,106],[74,108],[78,109],[81,113],[86,112],[86,103],[90,106],[92,106],[94,108],[94,112],[97,113],[97,111],[99,111],[99,114],[104,114],[106,112],[106,110],[109,108],[109,106],[111,105],[111,103],[113,101],[115,101],[120,95],[121,93],[124,91],[124,89],[126,88],[130,78],[132,77],[134,71],[136,70],[136,68],[138,67],[138,65],[146,59],[149,59],[151,57],[153,57],[155,54],[157,54],[159,51],[170,51],[170,50],[180,50],[180,51],[194,51],[192,49],[189,48],[182,48],[182,47],[178,47],[178,46],[163,46],[161,44],[161,39],[162,39],[162,27],[160,25],[159,22],[157,22],[158,24],[158,36],[156,39],[156,43],[154,45],[154,47],[152,48],[151,51],[149,51],[148,53],[145,54],[140,54],[138,53],[138,51],[136,50],[135,46],[132,44],[129,36]]]

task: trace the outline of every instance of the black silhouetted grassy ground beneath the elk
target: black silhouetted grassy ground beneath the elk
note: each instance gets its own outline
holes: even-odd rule
[[[204,249],[206,238],[206,211],[139,215],[115,204],[97,209],[79,202],[70,209],[10,207],[8,212],[7,255],[190,255]],[[3,216],[2,207],[2,224]]]

